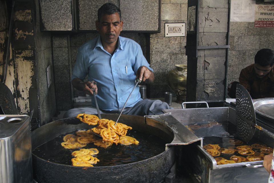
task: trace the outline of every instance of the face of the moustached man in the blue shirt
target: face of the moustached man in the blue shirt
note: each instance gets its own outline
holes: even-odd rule
[[[123,30],[123,21],[118,13],[111,15],[102,14],[100,22],[96,22],[96,30],[100,33],[102,43],[116,43],[120,32]]]

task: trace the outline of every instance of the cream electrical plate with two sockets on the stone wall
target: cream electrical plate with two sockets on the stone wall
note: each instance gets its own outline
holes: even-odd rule
[[[186,23],[165,23],[165,37],[186,36]]]

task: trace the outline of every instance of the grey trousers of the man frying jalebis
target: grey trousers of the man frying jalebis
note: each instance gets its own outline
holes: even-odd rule
[[[124,108],[124,111],[122,114],[130,114],[130,115],[136,115],[136,116],[146,116],[146,115],[159,115],[163,114],[164,112],[162,110],[164,109],[173,109],[168,106],[166,102],[162,102],[161,100],[150,100],[150,99],[144,99],[135,104],[133,107]],[[122,111],[122,108],[118,110],[100,110],[101,114],[119,114]],[[70,118],[77,116],[80,113],[85,114],[97,114],[96,108],[93,107],[87,107],[87,108],[75,108],[68,110],[63,118]]]

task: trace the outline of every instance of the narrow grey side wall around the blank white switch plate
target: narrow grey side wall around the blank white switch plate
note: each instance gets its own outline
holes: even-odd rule
[[[35,30],[35,48],[36,48],[36,67],[37,67],[37,87],[40,107],[41,124],[47,124],[52,121],[56,115],[55,99],[55,80],[53,77],[53,60],[52,60],[52,41],[51,33],[40,31],[40,15],[38,0],[34,0],[34,30]],[[48,87],[47,67],[50,66],[51,85]]]

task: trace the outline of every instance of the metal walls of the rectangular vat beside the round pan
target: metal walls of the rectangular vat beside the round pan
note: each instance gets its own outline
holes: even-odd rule
[[[202,124],[210,122],[221,124],[221,126],[204,126],[198,130],[193,130],[194,134],[200,138],[211,136],[222,138],[231,131],[235,131],[236,128],[236,111],[231,107],[164,111],[170,112],[185,126],[202,126]],[[257,124],[261,125],[258,121]],[[254,139],[269,147],[274,146],[274,139],[261,130],[256,129],[252,140]],[[182,146],[182,162],[184,166],[188,167],[187,170],[196,181],[206,183],[267,182],[269,174],[263,168],[263,161],[217,165],[215,159],[204,150],[203,145]]]

